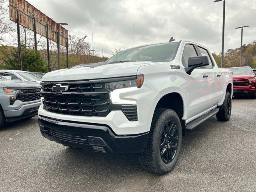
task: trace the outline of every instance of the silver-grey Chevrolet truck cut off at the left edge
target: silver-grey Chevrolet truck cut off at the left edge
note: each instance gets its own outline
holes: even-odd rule
[[[32,118],[41,105],[40,84],[0,76],[0,128],[6,122]]]

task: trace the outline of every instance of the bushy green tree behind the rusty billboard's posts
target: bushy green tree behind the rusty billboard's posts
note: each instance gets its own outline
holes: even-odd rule
[[[22,47],[22,68],[30,72],[48,72],[46,62],[40,52]],[[3,66],[5,69],[19,70],[18,49],[13,48],[10,56],[6,58]]]

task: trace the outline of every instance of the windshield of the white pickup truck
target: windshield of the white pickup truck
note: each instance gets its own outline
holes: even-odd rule
[[[179,44],[178,42],[170,42],[131,48],[119,52],[108,61],[168,62],[175,57]]]

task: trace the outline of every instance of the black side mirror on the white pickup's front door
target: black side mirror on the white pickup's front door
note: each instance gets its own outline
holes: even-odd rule
[[[186,73],[190,75],[195,68],[207,65],[210,65],[210,62],[208,56],[206,55],[190,57],[188,58],[188,67],[186,68]]]

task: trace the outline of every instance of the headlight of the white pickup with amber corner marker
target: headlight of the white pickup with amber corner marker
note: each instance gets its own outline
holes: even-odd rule
[[[110,91],[113,91],[116,89],[122,89],[122,88],[129,88],[129,87],[140,88],[143,85],[143,82],[144,82],[144,76],[138,75],[137,78],[133,80],[105,83],[105,88]]]

